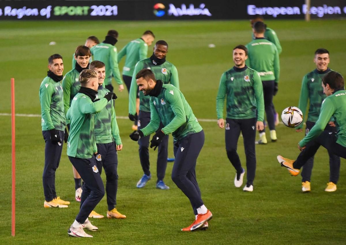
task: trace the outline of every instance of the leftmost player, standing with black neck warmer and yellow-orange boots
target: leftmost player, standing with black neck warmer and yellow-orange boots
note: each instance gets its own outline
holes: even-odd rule
[[[49,56],[48,69],[47,76],[39,89],[42,134],[45,141],[45,163],[42,176],[44,207],[67,208],[70,202],[60,199],[55,192],[55,172],[60,163],[66,125],[63,89],[60,85],[64,70],[63,57],[59,54]]]

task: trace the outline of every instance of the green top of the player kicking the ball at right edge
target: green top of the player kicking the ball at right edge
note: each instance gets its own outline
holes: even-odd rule
[[[346,90],[336,91],[325,98],[316,124],[299,142],[300,147],[304,147],[311,140],[317,138],[326,128],[331,116],[334,117],[337,127],[336,143],[346,147]]]

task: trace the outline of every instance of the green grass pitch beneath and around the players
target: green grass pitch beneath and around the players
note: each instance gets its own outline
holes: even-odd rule
[[[330,51],[330,68],[344,73],[346,32],[344,20],[266,21],[280,38],[281,76],[279,92],[274,97],[276,110],[297,106],[303,75],[315,68],[312,62],[317,48]],[[64,74],[71,69],[76,46],[86,37],[103,40],[108,29],[119,31],[118,51],[146,30],[156,40],[169,44],[167,60],[178,69],[180,88],[198,118],[216,119],[215,98],[221,74],[233,66],[232,49],[251,41],[248,21],[1,21],[5,35],[0,38],[2,95],[0,113],[10,113],[10,78],[16,79],[16,112],[40,114],[38,88],[47,72],[47,58],[59,53],[64,57]],[[55,46],[48,46],[55,41]],[[208,48],[213,43],[215,48]],[[148,55],[151,55],[149,47]],[[124,59],[120,63],[120,71]],[[113,83],[115,85],[115,83]],[[128,114],[128,94],[115,92],[116,113]],[[43,208],[42,171],[44,141],[39,117],[16,117],[17,132],[17,223],[11,237],[11,119],[0,116],[2,149],[0,185],[0,241],[7,244],[60,244],[81,242],[67,235],[67,229],[79,210],[74,201],[72,167],[64,145],[56,172],[57,194],[71,201],[67,209]],[[328,154],[320,149],[315,157],[311,192],[301,193],[301,177],[290,177],[280,167],[276,155],[295,158],[303,133],[277,127],[278,141],[256,146],[257,171],[254,192],[246,193],[233,184],[235,170],[225,152],[224,131],[216,122],[201,122],[206,141],[197,163],[197,179],[202,198],[213,219],[206,232],[183,233],[181,228],[193,222],[189,200],[170,178],[168,163],[165,182],[170,190],[155,188],[157,151],[150,150],[152,180],[143,189],[136,183],[143,175],[138,145],[128,137],[129,120],[118,120],[124,150],[119,152],[118,210],[125,220],[92,219],[98,232],[88,243],[99,244],[344,244],[346,184],[345,160],[342,159],[340,181],[335,193],[324,191],[329,181]],[[267,139],[269,139],[267,131]],[[170,149],[172,137],[170,136]],[[238,153],[245,168],[243,140]],[[170,151],[169,156],[173,153]],[[246,177],[246,176],[245,176]],[[104,173],[102,178],[105,180]],[[246,178],[244,178],[245,180]],[[106,215],[106,197],[95,208]],[[85,239],[83,239],[83,242]]]

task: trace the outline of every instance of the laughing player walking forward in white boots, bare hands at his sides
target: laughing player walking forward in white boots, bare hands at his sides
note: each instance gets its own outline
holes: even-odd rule
[[[255,138],[256,130],[263,130],[264,99],[260,75],[245,65],[247,48],[238,45],[233,49],[234,67],[222,74],[216,97],[218,126],[225,128],[224,104],[226,98],[226,152],[236,169],[235,187],[243,185],[245,170],[240,163],[237,145],[240,132],[244,138],[247,182],[244,191],[253,191],[256,172]],[[256,116],[257,112],[257,116]]]

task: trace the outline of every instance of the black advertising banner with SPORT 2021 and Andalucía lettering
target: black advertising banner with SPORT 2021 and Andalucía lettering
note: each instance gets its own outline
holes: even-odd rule
[[[0,20],[217,20],[346,17],[346,1],[314,0],[1,1]]]

